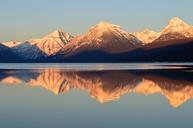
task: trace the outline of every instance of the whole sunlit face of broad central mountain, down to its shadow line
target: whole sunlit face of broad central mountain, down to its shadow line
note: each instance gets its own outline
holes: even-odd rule
[[[107,53],[130,51],[142,45],[135,36],[122,30],[120,26],[100,22],[88,33],[65,46],[65,55],[73,55],[83,51],[101,50]]]

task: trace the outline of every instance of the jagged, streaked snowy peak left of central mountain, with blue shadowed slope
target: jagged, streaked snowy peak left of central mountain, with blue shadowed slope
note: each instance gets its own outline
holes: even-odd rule
[[[24,59],[37,59],[55,55],[70,41],[72,36],[56,30],[41,39],[31,39],[13,47],[16,54]]]

